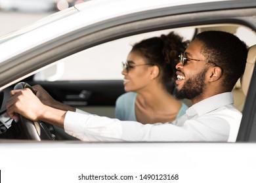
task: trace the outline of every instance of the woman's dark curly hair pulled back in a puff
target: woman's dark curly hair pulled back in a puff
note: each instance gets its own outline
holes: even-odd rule
[[[174,32],[160,37],[144,39],[135,44],[131,51],[139,52],[147,63],[160,69],[161,82],[166,84],[176,77],[175,66],[179,63],[179,54],[183,53],[189,41]]]

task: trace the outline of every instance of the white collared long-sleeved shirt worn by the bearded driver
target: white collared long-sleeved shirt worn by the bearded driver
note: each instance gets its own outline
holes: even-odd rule
[[[146,125],[77,109],[66,113],[64,129],[92,142],[236,142],[242,113],[233,104],[231,92],[221,93],[192,105],[174,122]]]

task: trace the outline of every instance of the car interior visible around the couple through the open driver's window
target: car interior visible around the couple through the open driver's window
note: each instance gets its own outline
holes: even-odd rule
[[[232,92],[234,93],[234,105],[243,112],[244,103],[249,89],[251,75],[256,59],[256,35],[253,30],[242,25],[218,24],[203,25],[197,27],[165,29],[131,35],[114,41],[104,42],[98,46],[88,48],[77,54],[57,61],[51,67],[45,67],[34,75],[21,80],[33,86],[40,84],[53,96],[54,99],[72,105],[81,110],[100,116],[114,118],[115,103],[117,97],[124,93],[123,76],[121,75],[121,61],[125,61],[131,45],[134,42],[158,36],[169,31],[177,31],[184,39],[192,40],[194,35],[209,29],[229,31],[240,37],[248,45],[248,57],[244,75],[238,80]],[[121,44],[121,46],[119,46]],[[123,47],[123,48],[121,48]],[[120,48],[118,53],[117,48]],[[104,54],[97,54],[104,50]],[[96,63],[93,65],[91,63]],[[74,67],[77,65],[77,67]],[[5,88],[0,94],[1,105],[0,120],[6,120],[5,103],[9,98],[9,92],[14,85]],[[1,104],[0,103],[0,104]],[[184,103],[191,106],[188,99]],[[1,124],[1,123],[0,123]],[[0,131],[0,139],[28,139],[22,133],[19,123],[12,122],[8,130]],[[0,126],[1,127],[1,126]],[[51,127],[48,127],[51,128]],[[63,129],[53,127],[51,129],[58,140],[77,140],[66,134]]]

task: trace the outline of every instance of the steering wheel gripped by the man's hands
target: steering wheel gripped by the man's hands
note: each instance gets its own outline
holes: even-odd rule
[[[19,82],[14,86],[14,90],[20,90],[24,88],[30,88],[32,92],[35,94],[35,91],[33,88],[26,82]],[[28,137],[28,139],[41,141],[41,140],[56,140],[56,135],[54,131],[53,125],[46,124],[43,122],[32,122],[31,120],[28,120],[27,118],[24,118],[24,116],[20,115],[20,125]]]

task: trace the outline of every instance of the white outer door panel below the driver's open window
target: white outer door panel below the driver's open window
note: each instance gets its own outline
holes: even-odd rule
[[[134,180],[127,182],[252,183],[256,180],[256,146],[250,143],[30,142],[1,144],[0,150],[5,155],[1,160],[4,167],[1,179],[7,183],[96,181],[78,180],[81,174],[134,176]],[[140,175],[179,175],[179,180],[139,180]]]

